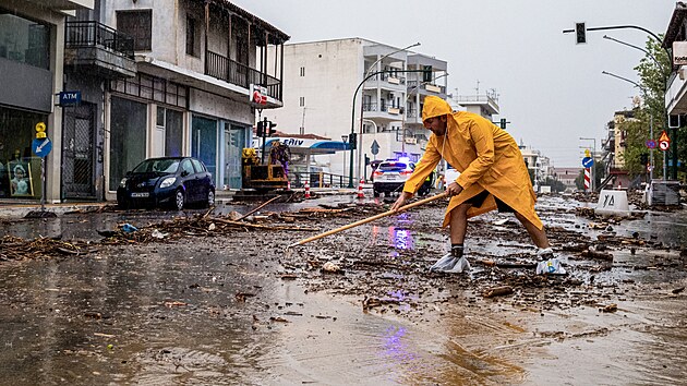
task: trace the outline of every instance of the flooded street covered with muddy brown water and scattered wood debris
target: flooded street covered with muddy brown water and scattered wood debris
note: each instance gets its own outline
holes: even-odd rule
[[[429,273],[447,248],[443,202],[286,249],[386,210],[355,203],[322,197],[255,215],[302,230],[206,234],[196,222],[178,239],[111,244],[96,230],[143,231],[171,214],[3,219],[4,234],[60,234],[93,250],[0,262],[0,384],[684,383],[684,210],[601,224],[577,215],[588,204],[542,197],[565,277],[535,276],[527,233],[495,213],[469,224],[470,275]],[[301,210],[321,204],[350,210]],[[612,261],[584,257],[590,246]],[[513,293],[485,295],[498,286]]]

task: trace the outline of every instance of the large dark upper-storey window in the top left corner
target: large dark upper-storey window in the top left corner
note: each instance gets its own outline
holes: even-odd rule
[[[50,26],[0,9],[0,58],[50,69]]]

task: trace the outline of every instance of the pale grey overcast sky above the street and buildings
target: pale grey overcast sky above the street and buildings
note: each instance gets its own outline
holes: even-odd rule
[[[631,108],[631,84],[643,52],[604,39],[644,47],[637,29],[588,33],[576,45],[576,22],[588,27],[637,25],[663,34],[671,0],[231,0],[287,35],[289,43],[361,37],[448,62],[448,92],[498,94],[501,116],[520,143],[556,167],[580,166],[583,150],[605,136],[613,112]],[[351,91],[352,93],[353,91]]]

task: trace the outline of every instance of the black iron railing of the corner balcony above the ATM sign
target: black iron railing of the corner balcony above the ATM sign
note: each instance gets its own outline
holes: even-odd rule
[[[101,47],[119,52],[126,58],[134,57],[134,39],[105,24],[88,22],[67,22],[64,47]]]

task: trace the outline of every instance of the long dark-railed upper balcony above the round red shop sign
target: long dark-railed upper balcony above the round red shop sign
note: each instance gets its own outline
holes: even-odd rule
[[[219,53],[205,55],[205,75],[249,89],[251,84],[267,88],[267,96],[281,101],[281,82]]]

